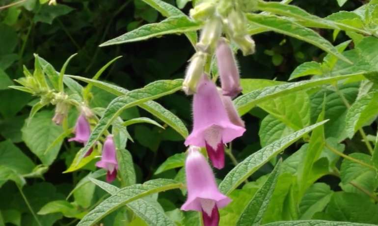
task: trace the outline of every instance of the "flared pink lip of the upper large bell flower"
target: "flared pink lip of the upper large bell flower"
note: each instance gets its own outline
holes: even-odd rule
[[[222,131],[222,141],[223,143],[228,143],[233,141],[235,138],[241,137],[245,132],[245,128],[241,126],[234,125],[229,122],[220,122],[219,124],[211,124],[206,127],[202,127],[200,130],[192,131],[185,140],[185,145],[195,145],[199,147],[204,147],[205,139],[204,133],[211,126],[219,126],[223,129]]]

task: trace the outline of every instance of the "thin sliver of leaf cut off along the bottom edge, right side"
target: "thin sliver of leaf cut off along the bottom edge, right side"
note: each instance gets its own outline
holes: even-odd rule
[[[281,222],[274,222],[274,223],[266,224],[263,226],[373,226],[373,225],[351,223],[351,222],[307,220],[307,221],[281,221]]]

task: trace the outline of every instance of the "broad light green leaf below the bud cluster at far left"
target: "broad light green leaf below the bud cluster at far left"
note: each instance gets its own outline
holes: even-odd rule
[[[22,128],[23,140],[27,147],[47,166],[54,162],[62,144],[62,141],[57,142],[54,148],[45,154],[45,150],[63,133],[63,129],[52,121],[53,115],[52,111],[36,113]]]

